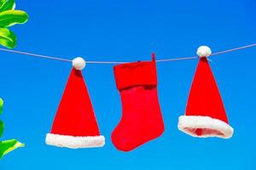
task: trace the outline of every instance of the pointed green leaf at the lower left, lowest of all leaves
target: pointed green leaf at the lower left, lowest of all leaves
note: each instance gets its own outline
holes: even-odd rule
[[[3,142],[0,142],[0,159],[3,158],[6,154],[8,154],[10,151],[15,150],[19,147],[24,147],[25,144],[21,144],[16,139],[6,140]]]

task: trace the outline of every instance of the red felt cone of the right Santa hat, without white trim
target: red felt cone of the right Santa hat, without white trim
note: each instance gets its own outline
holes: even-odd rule
[[[186,116],[210,116],[228,123],[218,85],[207,58],[201,58],[197,65],[189,93]]]

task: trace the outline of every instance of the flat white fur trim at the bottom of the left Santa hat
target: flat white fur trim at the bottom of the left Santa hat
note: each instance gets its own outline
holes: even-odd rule
[[[104,136],[75,137],[48,133],[46,135],[45,143],[57,147],[67,147],[71,149],[94,148],[102,147],[105,144],[105,138]]]

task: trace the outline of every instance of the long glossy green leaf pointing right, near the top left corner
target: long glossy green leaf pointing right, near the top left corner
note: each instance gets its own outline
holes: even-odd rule
[[[0,27],[24,24],[28,20],[28,15],[20,10],[7,10],[0,13]]]

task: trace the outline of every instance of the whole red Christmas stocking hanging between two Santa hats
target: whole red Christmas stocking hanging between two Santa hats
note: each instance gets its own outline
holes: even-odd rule
[[[118,150],[130,151],[164,132],[154,57],[153,61],[116,65],[113,70],[123,115],[112,141]]]

